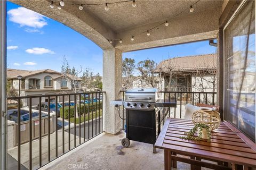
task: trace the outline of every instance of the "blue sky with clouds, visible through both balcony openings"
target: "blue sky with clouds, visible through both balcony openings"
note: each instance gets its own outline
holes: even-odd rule
[[[215,53],[208,41],[123,53],[136,62],[157,63],[170,57]],[[60,71],[66,56],[70,66],[102,75],[102,49],[66,25],[7,2],[7,67]]]

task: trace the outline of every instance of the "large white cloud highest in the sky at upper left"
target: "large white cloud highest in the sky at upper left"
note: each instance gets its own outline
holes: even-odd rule
[[[45,16],[38,14],[34,11],[28,10],[25,7],[18,7],[8,12],[9,20],[20,24],[21,27],[28,26],[33,28],[42,28],[47,25]]]

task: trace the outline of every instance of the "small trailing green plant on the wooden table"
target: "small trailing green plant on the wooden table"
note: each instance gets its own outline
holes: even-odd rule
[[[199,128],[199,134],[198,137],[195,137],[194,134],[196,133],[197,129]],[[201,140],[202,139],[202,129],[206,129],[207,132],[207,142],[211,141],[211,132],[210,127],[204,123],[197,123],[194,128],[192,128],[188,132],[184,132],[187,137],[179,137],[180,139],[186,139],[186,140]]]

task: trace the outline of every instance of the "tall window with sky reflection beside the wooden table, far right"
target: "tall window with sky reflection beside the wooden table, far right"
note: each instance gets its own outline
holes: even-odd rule
[[[246,1],[224,29],[224,119],[255,141],[255,4]]]

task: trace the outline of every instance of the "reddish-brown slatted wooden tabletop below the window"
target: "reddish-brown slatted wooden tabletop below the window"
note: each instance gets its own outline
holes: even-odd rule
[[[155,147],[169,150],[169,153],[199,157],[198,160],[212,159],[217,162],[232,163],[234,167],[238,165],[243,165],[245,168],[256,167],[256,144],[232,124],[221,122],[219,128],[211,132],[211,142],[179,138],[186,137],[184,132],[188,132],[193,127],[191,120],[167,118]],[[170,157],[169,154],[169,159]]]

